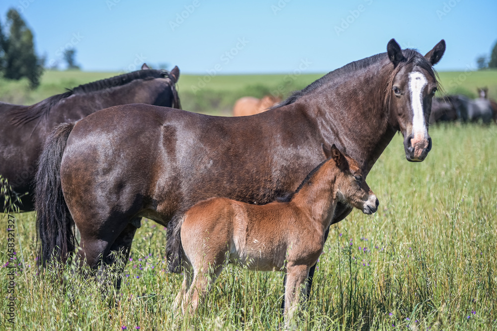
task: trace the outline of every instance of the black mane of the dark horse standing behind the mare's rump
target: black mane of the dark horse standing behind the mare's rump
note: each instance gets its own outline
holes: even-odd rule
[[[154,78],[169,78],[171,82],[174,82],[176,80],[166,70],[146,69],[83,84],[73,89],[66,89],[67,92],[49,97],[37,104],[14,111],[11,115],[12,124],[23,125],[42,116],[46,116],[50,112],[50,110],[55,107],[61,100],[73,95],[83,95],[87,93],[112,89],[131,83],[137,79],[151,80]],[[173,107],[181,108],[174,83],[171,84],[171,91],[174,99]]]

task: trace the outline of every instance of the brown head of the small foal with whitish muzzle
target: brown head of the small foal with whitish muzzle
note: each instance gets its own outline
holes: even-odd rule
[[[380,202],[371,191],[361,167],[352,158],[343,155],[333,144],[331,149],[323,145],[325,155],[333,159],[337,169],[335,190],[338,200],[361,210],[364,214],[373,214],[378,210]]]

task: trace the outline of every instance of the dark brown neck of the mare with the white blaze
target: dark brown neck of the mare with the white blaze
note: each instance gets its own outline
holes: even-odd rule
[[[392,70],[387,59],[344,74],[296,102],[314,112],[323,140],[354,158],[365,176],[396,133],[385,98]]]

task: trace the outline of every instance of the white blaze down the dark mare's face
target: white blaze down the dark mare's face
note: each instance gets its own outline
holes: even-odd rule
[[[428,84],[426,77],[418,71],[413,71],[409,73],[409,91],[411,91],[411,102],[413,103],[413,135],[422,135],[426,137],[428,131],[426,130],[426,124],[424,122],[423,113],[423,100],[422,93],[423,89]]]

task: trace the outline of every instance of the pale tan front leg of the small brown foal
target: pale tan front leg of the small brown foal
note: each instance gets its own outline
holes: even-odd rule
[[[285,329],[294,324],[295,313],[298,312],[301,299],[306,300],[305,281],[309,276],[308,265],[287,266],[285,284]]]

